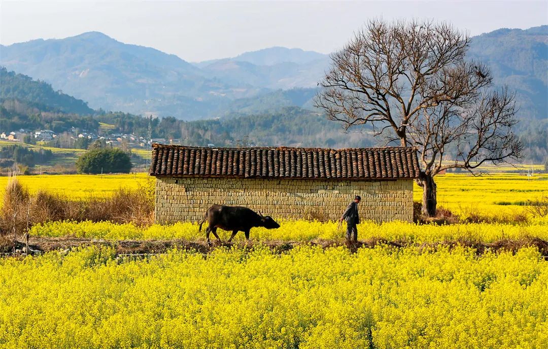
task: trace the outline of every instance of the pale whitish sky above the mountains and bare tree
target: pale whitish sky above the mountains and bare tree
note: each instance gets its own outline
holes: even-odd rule
[[[431,18],[478,35],[548,24],[548,1],[7,1],[0,43],[100,31],[187,61],[272,46],[330,53],[368,18]]]

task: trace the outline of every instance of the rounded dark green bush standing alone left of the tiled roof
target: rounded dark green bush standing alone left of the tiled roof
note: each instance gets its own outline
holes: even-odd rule
[[[101,148],[85,152],[76,162],[78,173],[129,173],[132,162],[119,148]]]

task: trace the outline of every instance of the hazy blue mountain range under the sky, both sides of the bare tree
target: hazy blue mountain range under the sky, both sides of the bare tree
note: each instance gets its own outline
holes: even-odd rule
[[[495,85],[517,90],[520,117],[547,116],[548,26],[475,36],[469,56],[488,64]],[[91,108],[186,120],[311,107],[329,63],[321,53],[272,47],[191,64],[99,32],[0,45],[1,66],[45,81]]]

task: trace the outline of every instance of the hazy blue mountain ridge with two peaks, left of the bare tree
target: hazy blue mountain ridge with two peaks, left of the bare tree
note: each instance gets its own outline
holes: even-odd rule
[[[270,48],[242,54],[237,62],[218,60],[212,67],[200,69],[175,55],[123,44],[99,32],[37,39],[1,50],[0,64],[48,81],[56,89],[89,101],[94,108],[183,119],[224,115],[235,110],[235,105],[256,105],[261,99],[250,98],[267,95],[269,99],[278,89],[315,87],[327,64],[316,61],[316,71],[310,73],[309,67],[296,62],[327,55]],[[241,98],[244,100],[233,102]],[[286,100],[275,104],[270,106],[287,106]],[[252,106],[248,110],[265,108]]]

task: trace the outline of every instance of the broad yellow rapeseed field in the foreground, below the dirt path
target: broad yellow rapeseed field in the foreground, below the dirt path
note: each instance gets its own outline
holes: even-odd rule
[[[0,347],[546,348],[538,251],[112,249],[0,259]]]

